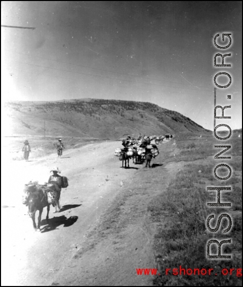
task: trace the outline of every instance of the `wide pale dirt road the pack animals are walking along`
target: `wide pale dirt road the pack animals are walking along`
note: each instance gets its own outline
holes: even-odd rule
[[[147,204],[166,188],[168,170],[160,162],[150,169],[132,163],[129,169],[120,168],[113,156],[117,147],[117,141],[93,143],[65,151],[62,159],[50,155],[6,166],[2,205],[9,208],[2,208],[2,285],[151,285],[150,276],[135,271],[156,268]],[[49,224],[43,220],[41,233],[34,232],[19,186],[29,180],[44,183],[53,166],[69,178],[61,194],[63,211],[52,214],[51,208]],[[77,221],[70,221],[71,216]]]

